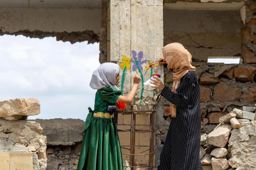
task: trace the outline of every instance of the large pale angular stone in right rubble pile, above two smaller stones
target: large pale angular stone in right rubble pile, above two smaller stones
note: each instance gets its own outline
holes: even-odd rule
[[[207,143],[217,147],[224,147],[228,143],[229,134],[232,127],[229,124],[219,124],[211,133],[208,134]]]

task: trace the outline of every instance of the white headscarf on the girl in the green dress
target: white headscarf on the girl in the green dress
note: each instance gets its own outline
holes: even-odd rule
[[[99,90],[106,86],[110,86],[119,90],[119,88],[116,86],[116,76],[118,74],[118,64],[103,63],[93,72],[90,87]]]

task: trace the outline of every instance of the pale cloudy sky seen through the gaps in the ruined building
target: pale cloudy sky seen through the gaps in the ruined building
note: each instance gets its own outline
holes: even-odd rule
[[[24,36],[0,36],[0,101],[36,98],[41,113],[28,119],[85,120],[94,108],[96,90],[89,87],[99,63],[99,43],[71,44]],[[209,59],[236,63],[237,59]]]

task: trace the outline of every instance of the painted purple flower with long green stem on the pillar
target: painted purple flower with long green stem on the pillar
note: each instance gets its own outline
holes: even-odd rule
[[[142,71],[142,66],[141,65],[146,63],[147,59],[142,61],[142,58],[143,58],[143,52],[142,51],[138,52],[138,58],[136,57],[137,56],[136,51],[132,50],[131,54],[132,54],[132,58],[133,58],[133,59],[131,59],[131,62],[133,63],[132,71],[136,71],[138,69],[138,71],[141,73],[141,71]],[[141,93],[140,93],[140,105],[141,105],[142,95],[143,95],[143,92],[144,92],[144,80],[143,80],[143,75],[142,74],[140,74],[140,77],[141,77],[141,84],[142,84],[142,89],[141,89]]]

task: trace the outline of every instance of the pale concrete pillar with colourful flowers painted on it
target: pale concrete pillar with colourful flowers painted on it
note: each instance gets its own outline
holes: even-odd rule
[[[155,63],[162,57],[162,47],[162,0],[110,0],[110,61],[123,65],[120,87],[124,95],[131,89],[131,78],[149,66],[148,61]],[[151,73],[163,78],[162,66],[144,71],[142,82],[146,82]],[[133,100],[133,109],[153,110],[159,92],[143,87],[142,82]]]

